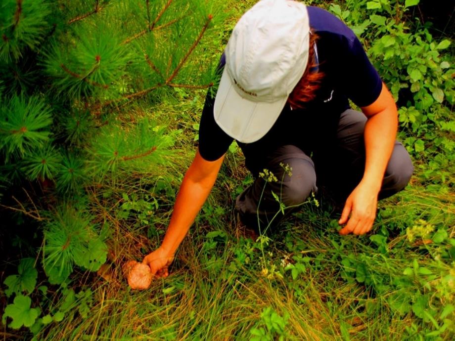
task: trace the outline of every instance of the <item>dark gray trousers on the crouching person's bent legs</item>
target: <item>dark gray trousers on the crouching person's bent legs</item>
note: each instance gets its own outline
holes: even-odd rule
[[[265,168],[278,181],[266,182],[258,177],[237,197],[235,209],[241,221],[256,231],[264,231],[269,224],[276,226],[292,212],[288,209],[284,215],[276,215],[280,209],[273,193],[286,207],[291,207],[305,202],[312,192],[316,193],[318,187],[323,187],[324,193],[328,193],[337,205],[344,205],[364,174],[365,122],[364,114],[346,110],[340,116],[334,145],[315,150],[311,158],[294,145],[280,146],[271,151]],[[280,164],[289,165],[292,175],[289,176]],[[408,152],[400,142],[395,142],[378,199],[390,197],[405,188],[412,171]]]

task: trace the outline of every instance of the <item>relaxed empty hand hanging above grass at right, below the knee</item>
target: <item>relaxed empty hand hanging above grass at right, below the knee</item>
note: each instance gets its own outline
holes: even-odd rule
[[[346,224],[340,234],[362,235],[371,230],[376,218],[377,195],[376,191],[363,183],[352,191],[338,221],[340,225]]]

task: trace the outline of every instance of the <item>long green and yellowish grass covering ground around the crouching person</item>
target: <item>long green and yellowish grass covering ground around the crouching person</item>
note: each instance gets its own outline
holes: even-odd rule
[[[106,281],[93,274],[73,274],[76,287],[93,291],[93,306],[86,318],[67,313],[38,339],[248,340],[253,330],[262,329],[272,339],[285,340],[415,340],[443,325],[438,317],[454,298],[453,280],[444,282],[455,276],[453,260],[446,257],[455,234],[453,193],[441,194],[414,180],[405,191],[381,201],[374,233],[385,236],[383,244],[372,242],[371,233],[339,236],[339,212],[332,212],[323,200],[320,207],[305,204],[270,241],[255,242],[240,236],[232,212],[246,176],[240,152],[227,155],[170,276],[153,281],[149,290],[130,291],[121,264],[141,260],[162,240],[175,191],[195,152],[193,125],[202,99],[201,93],[194,93],[179,104],[163,103],[146,113],[172,129],[183,129],[172,166],[163,169],[160,190],[143,174],[93,190],[94,214],[115,226],[110,237],[112,277]],[[123,193],[129,198],[154,193],[159,207],[147,215],[144,204],[128,218],[119,218]],[[140,223],[144,214],[148,224]],[[406,230],[419,219],[432,224],[434,231],[445,228],[448,235],[438,244],[423,244],[426,237],[418,236],[410,242]],[[414,260],[428,272],[405,276]],[[286,270],[288,262],[303,266],[295,277]],[[421,297],[429,299],[438,328],[413,311]],[[273,318],[261,316],[268,307],[276,313]],[[453,313],[446,319],[451,317]],[[273,319],[284,321],[284,328],[274,329]],[[451,340],[453,328],[452,324],[439,338]]]

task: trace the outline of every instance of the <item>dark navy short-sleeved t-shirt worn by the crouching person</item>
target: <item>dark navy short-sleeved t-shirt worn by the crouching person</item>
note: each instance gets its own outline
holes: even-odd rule
[[[264,168],[270,151],[279,146],[292,144],[308,155],[321,146],[329,146],[340,114],[349,108],[348,98],[360,107],[367,106],[382,89],[382,81],[354,32],[324,9],[307,9],[310,27],[318,35],[318,69],[324,77],[316,98],[305,103],[304,109],[291,110],[286,104],[264,137],[252,143],[238,142],[246,167],[254,175]],[[223,55],[220,67],[225,63]],[[233,141],[215,122],[214,102],[215,97],[208,94],[199,125],[199,153],[208,161],[219,159]]]

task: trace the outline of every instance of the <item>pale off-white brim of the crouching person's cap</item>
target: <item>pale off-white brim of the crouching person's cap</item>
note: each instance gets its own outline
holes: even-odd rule
[[[254,102],[240,96],[234,86],[225,67],[215,97],[215,122],[237,141],[255,142],[272,128],[287,97],[270,103]]]

